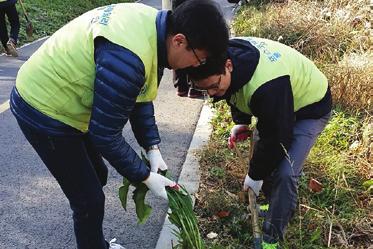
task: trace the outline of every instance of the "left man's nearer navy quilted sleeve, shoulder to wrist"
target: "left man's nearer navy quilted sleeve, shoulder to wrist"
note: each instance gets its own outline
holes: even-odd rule
[[[126,142],[122,130],[144,84],[144,65],[131,51],[103,38],[95,41],[95,63],[89,135],[121,175],[133,182],[143,181],[150,170]]]

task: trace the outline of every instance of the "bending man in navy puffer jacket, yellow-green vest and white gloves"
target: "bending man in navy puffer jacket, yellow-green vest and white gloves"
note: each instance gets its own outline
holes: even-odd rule
[[[18,72],[11,110],[73,211],[79,249],[122,248],[102,232],[105,158],[167,198],[152,100],[164,67],[197,67],[226,52],[228,29],[209,0],[175,11],[123,3],[89,11],[53,34]],[[122,136],[127,121],[151,169]]]

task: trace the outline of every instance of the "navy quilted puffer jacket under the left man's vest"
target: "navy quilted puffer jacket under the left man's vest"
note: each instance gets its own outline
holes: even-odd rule
[[[163,66],[167,66],[167,15],[167,11],[160,11],[156,20],[159,72]],[[96,78],[88,131],[90,140],[121,175],[132,182],[143,181],[149,176],[150,170],[126,142],[122,132],[129,120],[137,142],[143,148],[161,141],[153,103],[136,103],[145,81],[144,64],[133,52],[101,37],[95,40],[94,59]],[[17,119],[22,119],[42,133],[54,136],[83,134],[25,105],[17,91],[13,91],[11,109]]]

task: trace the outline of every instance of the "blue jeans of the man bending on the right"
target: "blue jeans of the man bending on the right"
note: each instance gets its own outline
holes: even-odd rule
[[[296,121],[293,141],[287,151],[289,158],[284,158],[272,175],[264,180],[263,192],[269,200],[269,210],[262,227],[264,241],[273,243],[283,240],[297,207],[298,182],[304,161],[329,118],[330,113],[320,119]]]

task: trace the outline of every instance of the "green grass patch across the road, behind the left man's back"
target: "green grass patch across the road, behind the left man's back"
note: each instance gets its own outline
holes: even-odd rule
[[[118,0],[79,0],[79,1],[64,1],[64,0],[24,0],[24,6],[33,25],[33,37],[28,39],[26,36],[25,26],[26,19],[23,15],[22,8],[19,3],[16,4],[20,18],[21,29],[19,33],[18,46],[27,42],[37,40],[53,34],[63,25],[83,14],[84,12],[94,9],[99,6],[131,1]]]

